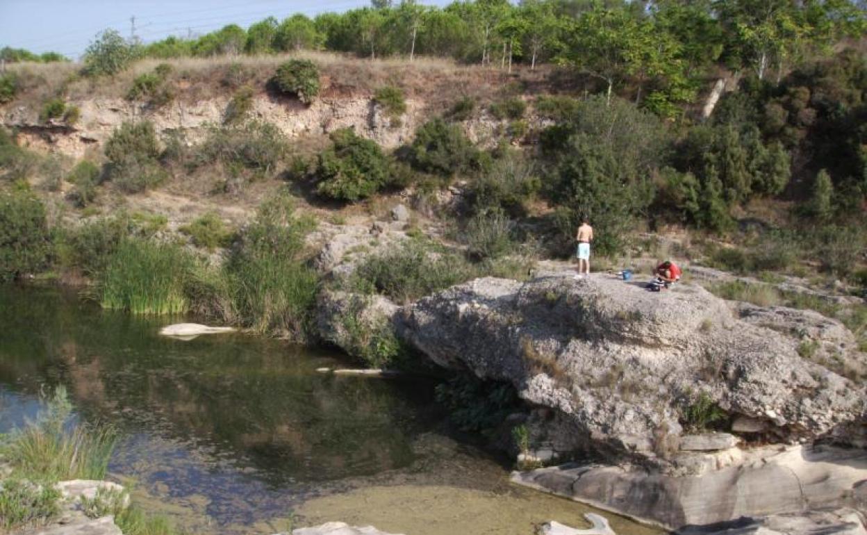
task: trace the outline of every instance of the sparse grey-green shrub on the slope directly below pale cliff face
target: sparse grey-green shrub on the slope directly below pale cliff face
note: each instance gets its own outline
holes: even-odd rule
[[[250,169],[267,174],[277,169],[286,149],[285,137],[277,127],[251,121],[238,127],[212,128],[194,158],[197,166],[221,161],[234,173]]]

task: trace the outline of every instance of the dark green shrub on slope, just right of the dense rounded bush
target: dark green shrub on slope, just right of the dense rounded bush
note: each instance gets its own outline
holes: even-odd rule
[[[479,167],[479,150],[463,129],[440,118],[427,121],[415,131],[407,156],[416,169],[444,176]]]

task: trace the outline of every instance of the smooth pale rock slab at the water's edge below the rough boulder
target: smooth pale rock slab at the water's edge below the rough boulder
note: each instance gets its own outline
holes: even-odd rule
[[[865,474],[864,450],[797,446],[759,448],[739,466],[701,477],[589,465],[516,472],[512,480],[677,529],[854,502]]]

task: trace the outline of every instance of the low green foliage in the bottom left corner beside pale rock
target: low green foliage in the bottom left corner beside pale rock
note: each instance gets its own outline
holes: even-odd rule
[[[61,493],[25,480],[0,481],[0,529],[11,533],[40,527],[60,513]]]

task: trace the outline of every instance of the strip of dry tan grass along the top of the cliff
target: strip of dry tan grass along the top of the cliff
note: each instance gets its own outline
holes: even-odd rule
[[[152,72],[160,63],[173,66],[167,76],[180,101],[193,102],[225,96],[242,85],[264,88],[277,66],[291,58],[310,59],[323,76],[323,98],[369,97],[383,85],[401,87],[407,100],[424,101],[425,107],[445,110],[462,96],[491,101],[506,88],[518,85],[538,90],[547,84],[549,69],[520,70],[507,75],[498,69],[461,65],[444,58],[386,58],[370,61],[352,55],[301,51],[282,55],[238,55],[173,60],[145,59],[119,75],[98,79],[81,77],[79,63],[16,63],[23,90],[16,104],[35,106],[53,96],[71,101],[94,97],[122,98],[136,76]]]

